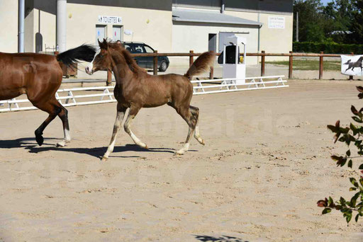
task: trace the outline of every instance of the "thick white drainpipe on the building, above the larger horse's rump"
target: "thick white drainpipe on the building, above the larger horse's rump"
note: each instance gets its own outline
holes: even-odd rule
[[[57,0],[57,49],[67,50],[67,0]]]

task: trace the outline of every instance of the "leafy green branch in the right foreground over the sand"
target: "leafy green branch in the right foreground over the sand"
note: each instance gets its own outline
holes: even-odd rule
[[[359,91],[358,98],[363,98],[363,87],[357,86]],[[363,123],[363,108],[359,111],[353,105],[350,108],[353,113],[352,120],[354,123],[350,123],[349,127],[340,127],[340,121],[338,120],[335,125],[328,125],[334,135],[334,143],[337,141],[345,143],[348,150],[342,156],[331,156],[331,159],[337,163],[337,166],[347,166],[349,168],[353,167],[353,159],[362,158],[363,156],[363,127],[359,124]],[[352,156],[350,148],[355,146],[357,149],[358,156]],[[363,163],[359,165],[361,173],[363,173]],[[326,198],[324,200],[318,201],[318,207],[324,207],[323,214],[328,214],[332,209],[339,210],[342,212],[343,217],[350,222],[354,216],[354,220],[358,221],[359,217],[363,217],[363,176],[359,178],[350,178],[350,183],[352,187],[350,191],[355,192],[350,200],[346,200],[344,197],[340,197],[340,200],[334,202],[332,197]]]

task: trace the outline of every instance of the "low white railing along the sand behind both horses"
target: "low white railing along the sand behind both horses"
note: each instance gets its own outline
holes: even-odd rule
[[[213,79],[213,80],[196,80],[191,81],[196,86],[193,88],[193,94],[208,94],[208,93],[225,93],[231,91],[247,91],[258,90],[268,88],[284,88],[286,80],[283,80],[284,76],[260,76],[260,77],[248,77],[245,79],[246,83],[237,83],[238,79]],[[270,79],[272,81],[266,81]],[[244,87],[247,86],[247,87]],[[63,106],[75,106],[75,105],[89,105],[98,103],[113,103],[116,99],[113,96],[113,86],[96,86],[85,88],[64,88],[58,89],[55,93],[57,100],[62,103]],[[102,91],[102,93],[92,93],[83,95],[74,95],[77,91]],[[66,96],[62,96],[62,93],[67,93]],[[104,100],[104,98],[107,98]],[[88,98],[93,100],[79,101],[79,99]],[[94,100],[96,98],[96,100]],[[99,99],[97,99],[99,98]],[[20,106],[20,103],[29,103],[30,105]],[[11,100],[0,100],[0,113],[20,110],[32,110],[36,109],[31,105],[28,99],[17,100],[13,98]]]

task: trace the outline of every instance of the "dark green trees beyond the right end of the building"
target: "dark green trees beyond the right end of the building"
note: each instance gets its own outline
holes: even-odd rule
[[[297,12],[300,42],[363,44],[363,0],[294,0],[294,40]]]

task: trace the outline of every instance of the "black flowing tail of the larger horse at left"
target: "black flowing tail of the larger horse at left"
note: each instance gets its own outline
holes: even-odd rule
[[[92,45],[81,45],[71,50],[57,54],[57,61],[67,66],[77,63],[79,60],[91,62],[96,54],[96,47]]]

